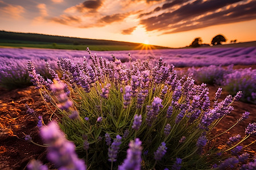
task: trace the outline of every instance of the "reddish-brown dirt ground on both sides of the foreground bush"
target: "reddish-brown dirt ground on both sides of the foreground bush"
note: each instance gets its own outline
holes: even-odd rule
[[[215,92],[218,87],[208,86],[210,91],[210,100],[213,102]],[[228,92],[223,92],[221,99],[224,99]],[[26,169],[26,165],[31,159],[42,160],[50,168],[53,168],[46,159],[46,149],[36,146],[24,140],[25,134],[30,134],[32,140],[42,144],[37,128],[37,120],[34,116],[26,113],[27,109],[24,104],[28,104],[34,109],[37,116],[42,115],[44,122],[49,122],[51,113],[39,94],[33,86],[16,89],[12,91],[0,90],[0,169]],[[215,142],[221,147],[229,137],[240,134],[245,136],[245,128],[249,122],[253,123],[256,120],[256,105],[237,101],[233,104],[235,108],[231,114],[221,120],[220,124],[213,130],[213,134],[219,134],[222,131],[230,128],[241,117],[245,111],[250,112],[250,117],[240,124],[236,125],[228,133],[221,135],[215,139]],[[54,119],[54,117],[53,117]],[[255,136],[249,138],[243,146],[249,145],[255,141]],[[245,148],[246,152],[255,155],[256,144]]]

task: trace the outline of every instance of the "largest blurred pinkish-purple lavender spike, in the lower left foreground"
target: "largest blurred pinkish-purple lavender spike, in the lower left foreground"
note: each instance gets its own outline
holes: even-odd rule
[[[57,168],[86,169],[84,162],[76,155],[74,144],[67,141],[56,122],[52,121],[48,126],[43,126],[40,134],[49,145],[47,157]]]

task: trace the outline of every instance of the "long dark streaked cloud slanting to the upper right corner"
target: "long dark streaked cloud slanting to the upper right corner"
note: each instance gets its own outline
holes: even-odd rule
[[[221,11],[222,15],[228,14],[230,12],[236,12],[236,13],[241,12],[241,11],[236,11],[237,8],[234,8],[232,6],[230,6],[229,9],[224,8],[228,5],[234,5],[234,3],[238,2],[238,1],[239,0],[226,0],[226,1],[197,0],[197,1],[193,1],[191,3],[187,3],[187,4],[177,8],[174,11],[171,11],[171,12],[166,11],[157,16],[151,16],[150,18],[142,19],[141,24],[144,25],[144,27],[146,28],[147,31],[168,30],[168,31],[166,31],[166,33],[189,31],[191,29],[196,29],[199,27],[200,28],[208,27],[208,24],[205,24],[201,20],[197,20],[197,19],[208,16],[209,13],[215,14],[220,11]],[[175,1],[172,1],[171,3],[174,3],[174,2]],[[242,2],[245,3],[247,1],[242,1]],[[251,1],[250,3],[255,3],[255,2]],[[251,5],[253,5],[253,4],[251,4]],[[243,5],[236,4],[236,6],[238,7],[238,6],[243,6]],[[251,6],[251,7],[255,8],[255,5]],[[240,10],[243,10],[243,9],[240,8]],[[249,14],[249,12],[247,12],[247,14]],[[236,22],[236,18],[238,20],[241,20],[238,17],[235,17],[232,19],[232,22]],[[248,16],[247,19],[250,19],[250,17]],[[222,16],[216,15],[216,18],[214,18],[213,22],[210,22],[210,23],[213,25],[216,25],[216,24],[220,23],[220,20],[222,20]],[[246,17],[243,18],[243,20],[246,20]],[[207,20],[205,20],[204,22],[209,23]],[[221,22],[221,23],[226,23],[226,22],[228,22],[228,20],[225,20],[225,22]],[[179,25],[179,23],[181,23],[181,25]]]

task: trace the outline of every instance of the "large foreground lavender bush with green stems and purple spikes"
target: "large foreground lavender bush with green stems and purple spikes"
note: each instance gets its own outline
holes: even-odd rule
[[[230,105],[239,94],[218,101],[218,90],[211,106],[206,84],[195,85],[191,77],[177,78],[174,66],[162,58],[154,67],[139,59],[133,63],[130,59],[126,66],[114,56],[108,61],[88,52],[90,63],[86,59],[82,63],[67,58],[57,61],[62,79],[48,69],[54,83],[32,77],[46,104],[56,107],[58,112],[53,113],[59,117],[60,129],[85,163],[61,132],[46,133],[50,124],[41,131],[49,145],[49,160],[56,167],[223,169],[240,162],[240,155],[231,157],[233,148],[255,135],[255,123],[249,124],[242,139],[222,149],[210,145],[211,131],[233,110]],[[29,70],[34,75],[32,63]],[[60,159],[66,152],[72,153],[72,159],[62,163],[68,158]]]

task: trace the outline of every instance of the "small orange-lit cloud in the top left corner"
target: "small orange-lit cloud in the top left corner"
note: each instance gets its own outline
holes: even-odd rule
[[[20,19],[24,12],[25,9],[20,5],[10,5],[0,1],[0,14],[3,16],[11,16],[13,19]]]

